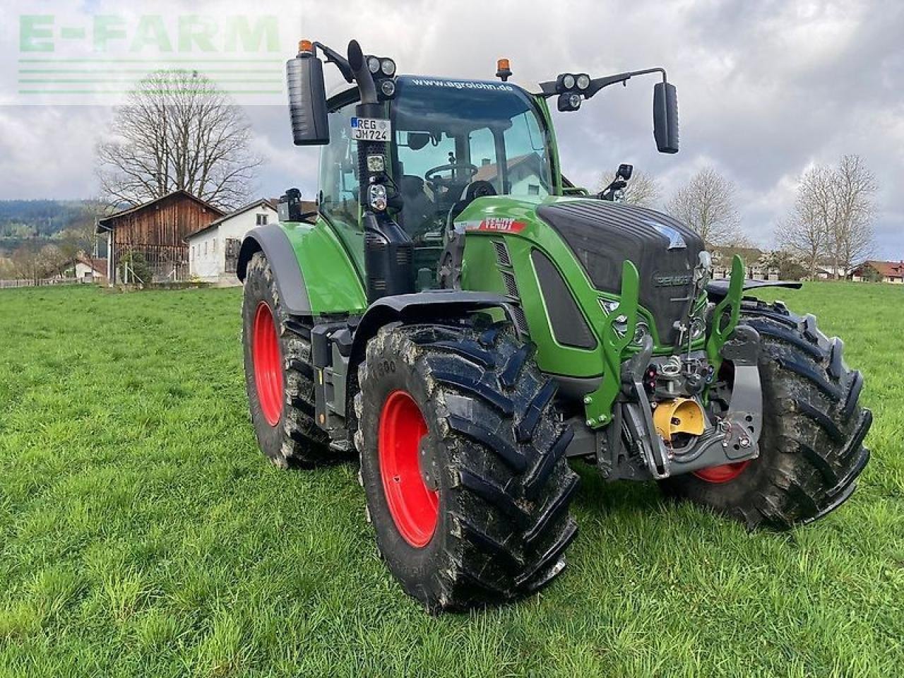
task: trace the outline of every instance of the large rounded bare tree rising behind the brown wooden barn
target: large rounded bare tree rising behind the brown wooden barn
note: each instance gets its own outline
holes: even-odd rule
[[[220,207],[250,192],[260,165],[241,109],[196,71],[154,71],[129,94],[97,148],[110,202],[139,204],[184,189]]]

